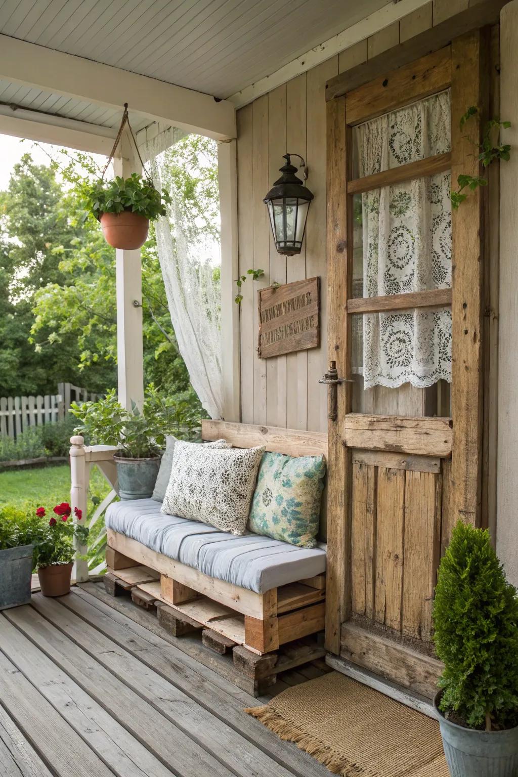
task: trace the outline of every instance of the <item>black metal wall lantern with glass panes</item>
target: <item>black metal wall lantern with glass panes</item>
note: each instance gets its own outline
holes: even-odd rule
[[[283,156],[286,164],[280,168],[282,176],[273,184],[263,200],[268,206],[275,247],[285,256],[301,253],[309,204],[313,199],[313,194],[295,175],[297,168],[291,164],[290,156],[299,155]],[[302,157],[299,159],[301,159],[301,167],[305,169],[304,159]]]

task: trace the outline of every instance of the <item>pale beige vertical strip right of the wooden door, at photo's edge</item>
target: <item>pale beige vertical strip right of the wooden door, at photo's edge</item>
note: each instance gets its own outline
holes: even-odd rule
[[[518,0],[500,12],[502,143],[511,145],[500,164],[499,423],[496,487],[496,552],[518,585]]]

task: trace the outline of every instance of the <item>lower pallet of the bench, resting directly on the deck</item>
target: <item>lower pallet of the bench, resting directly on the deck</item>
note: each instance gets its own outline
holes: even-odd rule
[[[152,579],[153,577],[155,579]],[[251,695],[258,697],[269,694],[279,676],[280,685],[283,686],[284,673],[289,675],[290,671],[301,667],[304,667],[302,671],[308,670],[308,676],[300,679],[308,679],[311,671],[316,674],[325,671],[322,633],[304,636],[302,639],[283,644],[277,650],[259,653],[244,644],[244,615],[231,611],[224,605],[218,605],[207,597],[199,596],[196,592],[196,598],[180,605],[171,605],[163,601],[157,577],[157,573],[146,566],[134,566],[109,570],[103,580],[110,595],[130,596],[135,604],[155,611],[159,625],[170,636],[181,637],[199,633],[203,646],[217,654],[219,660],[233,664],[235,671],[242,678],[239,687]],[[140,582],[141,579],[143,582]],[[186,595],[186,591],[183,591],[183,594]],[[301,594],[301,591],[297,594]],[[315,605],[309,605],[303,610],[311,610],[313,607]],[[290,612],[288,615],[293,616],[297,612],[300,611]],[[314,664],[316,661],[321,662],[318,669]]]

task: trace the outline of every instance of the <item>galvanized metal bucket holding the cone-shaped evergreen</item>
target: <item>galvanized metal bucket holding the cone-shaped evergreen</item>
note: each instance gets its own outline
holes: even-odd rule
[[[518,775],[518,726],[506,731],[477,731],[439,718],[444,754],[451,777],[516,777]]]

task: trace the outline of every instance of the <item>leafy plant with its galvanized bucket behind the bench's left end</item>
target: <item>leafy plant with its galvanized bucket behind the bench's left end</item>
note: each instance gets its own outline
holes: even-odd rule
[[[169,409],[158,397],[154,386],[148,386],[140,411],[132,402],[131,410],[123,408],[115,389],[96,402],[71,404],[71,413],[81,421],[76,434],[89,437],[92,444],[115,445],[113,456],[121,499],[151,497],[160,468],[160,454],[169,434]]]

